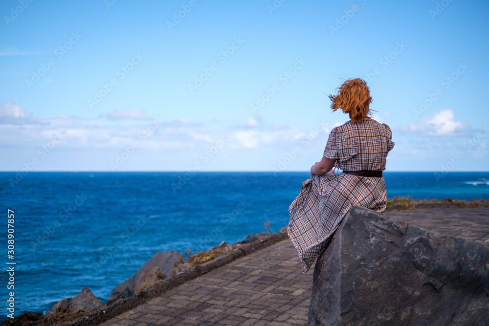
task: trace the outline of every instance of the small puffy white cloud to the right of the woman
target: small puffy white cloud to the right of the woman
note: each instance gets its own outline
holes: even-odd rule
[[[455,121],[453,111],[440,110],[431,119],[420,119],[417,124],[409,124],[408,130],[427,136],[459,136],[463,135],[467,126]]]

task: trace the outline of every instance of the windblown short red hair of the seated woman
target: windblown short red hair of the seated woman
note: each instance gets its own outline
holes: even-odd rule
[[[333,111],[342,109],[343,112],[350,114],[352,122],[362,122],[367,117],[372,102],[367,83],[361,78],[348,79],[336,89],[338,90],[336,95],[329,95],[332,102],[331,109]]]

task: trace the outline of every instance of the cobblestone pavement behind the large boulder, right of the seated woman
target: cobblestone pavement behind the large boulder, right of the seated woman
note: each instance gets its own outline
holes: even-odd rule
[[[489,239],[489,209],[487,208],[433,208],[384,213],[413,226],[482,242]]]

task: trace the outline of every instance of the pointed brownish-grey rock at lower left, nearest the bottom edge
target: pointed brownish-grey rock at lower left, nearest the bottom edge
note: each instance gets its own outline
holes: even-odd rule
[[[45,318],[48,324],[51,325],[61,321],[71,321],[84,313],[104,307],[106,305],[95,297],[88,287],[84,286],[76,296],[63,299],[56,303],[46,313]]]

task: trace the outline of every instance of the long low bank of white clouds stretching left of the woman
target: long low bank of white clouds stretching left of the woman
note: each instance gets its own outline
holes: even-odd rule
[[[129,124],[124,125],[71,116],[31,117],[32,114],[25,113],[20,106],[13,103],[2,103],[0,112],[9,117],[8,121],[0,119],[0,146],[17,147],[40,146],[50,142],[56,132],[62,132],[66,136],[59,144],[60,148],[120,149],[134,141],[140,141],[143,130],[150,128],[154,121],[154,117],[147,117],[142,109],[112,111],[105,116],[110,120],[130,120]],[[229,139],[226,146],[233,150],[286,151],[291,146],[296,146],[300,142],[299,138],[311,138],[311,134],[314,136],[314,129],[321,130],[319,126],[326,128],[327,133],[333,128],[333,124],[318,122],[311,130],[299,130],[286,125],[267,124],[262,117],[255,116],[242,124],[227,124],[220,129],[211,129],[212,123],[204,124],[180,118],[164,121],[151,137],[141,142],[141,147],[153,150],[178,148],[188,152],[205,149],[214,144],[218,137],[225,137]],[[322,137],[325,142],[327,134]]]

